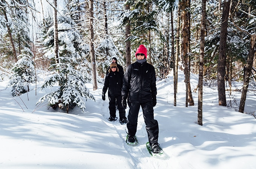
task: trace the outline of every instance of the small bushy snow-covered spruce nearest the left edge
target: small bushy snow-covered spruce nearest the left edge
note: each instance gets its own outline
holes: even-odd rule
[[[11,79],[9,84],[12,86],[12,95],[18,96],[29,92],[29,84],[36,81],[34,61],[30,55],[32,52],[25,48],[23,54],[18,56],[18,62],[12,68]]]

